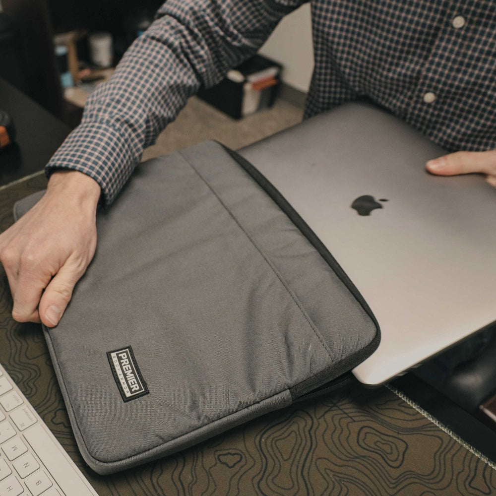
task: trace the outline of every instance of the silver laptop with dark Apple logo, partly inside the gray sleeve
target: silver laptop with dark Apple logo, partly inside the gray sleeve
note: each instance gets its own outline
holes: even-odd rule
[[[353,370],[361,382],[381,384],[496,320],[496,189],[428,174],[446,152],[408,124],[351,103],[240,153],[375,314],[381,343]]]

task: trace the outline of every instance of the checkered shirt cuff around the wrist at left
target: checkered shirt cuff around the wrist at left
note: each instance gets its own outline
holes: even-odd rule
[[[45,172],[50,176],[57,169],[69,169],[90,176],[102,188],[104,204],[109,205],[139,161],[141,150],[137,143],[132,146],[133,141],[111,122],[84,122],[69,134]]]

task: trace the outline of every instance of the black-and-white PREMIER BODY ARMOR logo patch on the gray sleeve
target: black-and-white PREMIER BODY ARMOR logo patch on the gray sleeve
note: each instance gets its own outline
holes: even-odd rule
[[[124,401],[139,398],[150,392],[141,376],[130,346],[120,350],[108,351],[107,358]]]

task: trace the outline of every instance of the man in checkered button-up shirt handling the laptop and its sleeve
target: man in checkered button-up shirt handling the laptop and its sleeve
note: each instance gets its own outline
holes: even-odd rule
[[[252,56],[303,0],[168,0],[89,98],[47,165],[41,200],[0,236],[20,322],[59,322],[110,205],[143,149],[200,86]],[[496,8],[489,0],[312,0],[305,118],[367,96],[444,146],[427,168],[496,186]],[[143,198],[146,201],[146,198]]]

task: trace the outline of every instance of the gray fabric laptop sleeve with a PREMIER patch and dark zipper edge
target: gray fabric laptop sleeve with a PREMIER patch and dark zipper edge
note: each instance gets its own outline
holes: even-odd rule
[[[44,332],[77,443],[100,474],[309,397],[378,345],[332,255],[217,142],[141,164],[97,230],[92,263]]]

